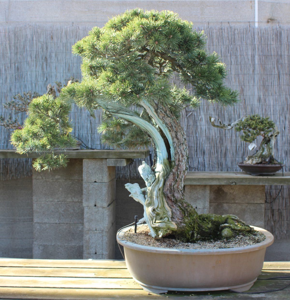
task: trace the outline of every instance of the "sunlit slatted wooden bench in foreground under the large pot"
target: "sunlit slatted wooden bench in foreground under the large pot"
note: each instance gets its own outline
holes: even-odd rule
[[[290,276],[290,262],[265,262],[249,292],[279,289],[289,280],[263,280]],[[145,300],[145,299],[289,299],[286,289],[245,295],[228,290],[208,292],[145,292],[128,272],[124,260],[0,259],[0,299]]]

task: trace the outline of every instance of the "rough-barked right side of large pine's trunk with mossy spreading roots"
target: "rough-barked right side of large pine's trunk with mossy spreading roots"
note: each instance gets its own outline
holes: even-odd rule
[[[165,144],[168,145],[171,171],[165,179],[163,192],[172,211],[171,220],[176,224],[173,234],[181,240],[193,242],[200,239],[230,238],[241,231],[252,231],[250,226],[234,215],[199,215],[185,201],[184,182],[188,168],[188,148],[184,130],[168,107],[160,103],[150,105],[145,101],[142,101],[141,105],[154,119],[159,130],[163,131]]]

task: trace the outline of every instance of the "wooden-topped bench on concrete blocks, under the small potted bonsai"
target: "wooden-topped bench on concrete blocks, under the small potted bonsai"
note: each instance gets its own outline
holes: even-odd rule
[[[265,186],[289,185],[290,173],[252,176],[245,172],[188,172],[185,199],[198,213],[236,214],[264,228]]]

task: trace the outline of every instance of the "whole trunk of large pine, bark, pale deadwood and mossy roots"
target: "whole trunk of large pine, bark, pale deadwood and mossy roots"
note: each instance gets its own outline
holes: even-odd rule
[[[132,122],[145,131],[155,145],[154,171],[143,161],[138,168],[146,187],[125,184],[130,196],[144,207],[144,218],[154,238],[173,234],[184,241],[232,237],[238,231],[252,229],[233,215],[200,214],[184,200],[187,172],[187,143],[184,130],[170,110],[160,104],[141,100],[152,123],[127,107],[97,99],[111,114]],[[144,194],[145,193],[145,196]]]

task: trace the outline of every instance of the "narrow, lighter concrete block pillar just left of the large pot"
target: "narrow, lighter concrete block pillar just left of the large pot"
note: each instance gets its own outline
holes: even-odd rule
[[[83,160],[84,259],[112,259],[115,251],[116,167]]]

